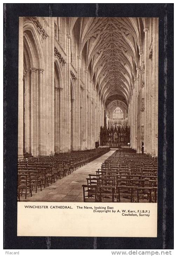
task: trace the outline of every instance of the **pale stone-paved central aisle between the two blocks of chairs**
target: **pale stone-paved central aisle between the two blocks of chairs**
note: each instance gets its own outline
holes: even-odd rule
[[[101,164],[115,151],[98,157],[94,161],[76,169],[72,174],[56,181],[42,191],[34,193],[33,196],[27,196],[27,199],[21,198],[21,201],[29,202],[83,202],[82,184],[87,184],[86,178],[89,174],[96,174],[96,170],[101,168]]]

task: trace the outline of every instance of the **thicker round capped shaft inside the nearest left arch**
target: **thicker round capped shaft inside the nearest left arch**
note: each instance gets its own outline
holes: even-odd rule
[[[31,68],[31,153],[36,156],[36,68]]]

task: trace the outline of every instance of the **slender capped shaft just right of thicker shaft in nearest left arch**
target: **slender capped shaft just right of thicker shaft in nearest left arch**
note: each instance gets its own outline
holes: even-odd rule
[[[43,141],[43,69],[39,69],[39,155],[44,154]]]

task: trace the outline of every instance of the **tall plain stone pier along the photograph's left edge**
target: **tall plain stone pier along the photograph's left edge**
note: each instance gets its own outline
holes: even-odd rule
[[[23,158],[23,17],[19,17],[18,158]]]

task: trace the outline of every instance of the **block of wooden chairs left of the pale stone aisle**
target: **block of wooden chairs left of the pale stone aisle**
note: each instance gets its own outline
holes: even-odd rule
[[[61,153],[52,156],[28,157],[18,161],[18,200],[25,195],[33,195],[35,189],[46,188],[66,174],[71,174],[76,169],[109,151],[108,148],[85,150],[72,153]]]

